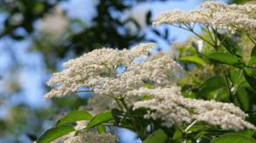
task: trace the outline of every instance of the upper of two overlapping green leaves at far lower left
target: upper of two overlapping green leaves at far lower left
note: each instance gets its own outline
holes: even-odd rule
[[[81,120],[90,120],[92,116],[90,115],[89,112],[84,112],[84,111],[73,111],[67,113],[65,117],[62,117],[61,120],[56,123],[56,126],[60,126],[62,124],[66,123],[74,123],[76,121],[81,121]]]

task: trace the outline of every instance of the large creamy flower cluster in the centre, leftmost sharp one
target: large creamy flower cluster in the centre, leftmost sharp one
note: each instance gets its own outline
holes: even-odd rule
[[[145,83],[151,83],[154,87],[176,84],[180,66],[169,55],[152,56],[149,60],[134,62],[153,47],[154,43],[144,43],[131,50],[96,49],[69,60],[64,63],[67,69],[55,73],[47,83],[59,87],[44,97],[72,94],[80,87],[90,88],[96,94],[121,96],[143,87]],[[123,72],[118,72],[120,66],[125,69]]]

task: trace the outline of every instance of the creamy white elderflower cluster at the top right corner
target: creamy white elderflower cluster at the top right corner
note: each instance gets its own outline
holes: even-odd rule
[[[202,24],[216,29],[226,29],[232,33],[236,30],[255,30],[256,28],[255,4],[225,4],[207,1],[201,3],[199,9],[190,12],[172,10],[159,14],[154,21],[154,26],[161,24],[177,24],[193,28],[190,24]]]

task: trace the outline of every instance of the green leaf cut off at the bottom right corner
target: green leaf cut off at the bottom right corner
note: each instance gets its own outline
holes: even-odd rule
[[[256,140],[243,134],[224,134],[217,139],[211,140],[211,143],[255,143]]]

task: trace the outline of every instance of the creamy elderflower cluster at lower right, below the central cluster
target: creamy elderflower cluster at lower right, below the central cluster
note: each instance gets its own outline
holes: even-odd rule
[[[133,110],[148,108],[150,112],[144,118],[160,119],[161,124],[166,127],[192,123],[196,120],[218,125],[222,129],[256,129],[253,124],[245,121],[247,115],[239,107],[214,100],[184,98],[176,86],[164,89],[138,89],[129,92],[128,95],[149,96],[150,100],[135,103]]]

